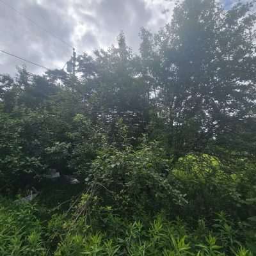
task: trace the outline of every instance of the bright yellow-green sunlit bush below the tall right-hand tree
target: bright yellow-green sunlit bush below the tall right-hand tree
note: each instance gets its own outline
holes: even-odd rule
[[[173,175],[182,184],[188,204],[182,216],[212,218],[214,212],[225,211],[238,218],[242,209],[242,195],[236,173],[226,173],[216,157],[206,154],[182,157],[172,169]]]

